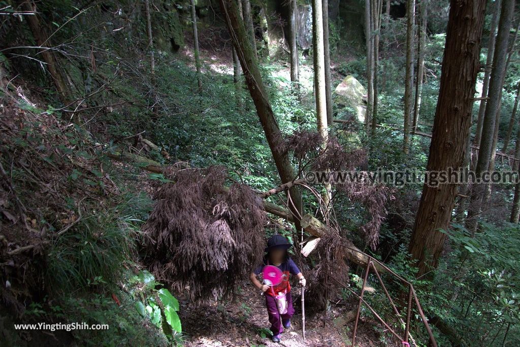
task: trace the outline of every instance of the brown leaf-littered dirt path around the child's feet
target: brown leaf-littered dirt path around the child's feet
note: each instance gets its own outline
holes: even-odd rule
[[[265,336],[269,328],[264,298],[252,284],[245,284],[235,301],[181,310],[185,346],[349,346],[354,323],[337,326],[337,318],[356,309],[355,302],[335,306],[323,319],[323,312],[305,315],[305,341],[302,337],[301,290],[293,289],[295,314],[291,328],[282,333],[280,343],[271,342]],[[378,333],[372,329],[372,321],[360,318],[357,344],[360,346],[380,345]]]

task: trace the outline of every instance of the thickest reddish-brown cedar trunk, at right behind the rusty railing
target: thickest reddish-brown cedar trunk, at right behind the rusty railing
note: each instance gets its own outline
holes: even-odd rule
[[[452,0],[435,111],[428,171],[461,166],[471,126],[486,0]],[[457,185],[423,186],[409,252],[418,276],[437,266],[453,210]]]

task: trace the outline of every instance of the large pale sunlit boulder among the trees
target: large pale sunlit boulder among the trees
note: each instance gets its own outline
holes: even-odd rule
[[[367,90],[356,77],[346,76],[334,91],[336,105],[348,106],[356,111],[360,122],[365,122],[367,113]]]

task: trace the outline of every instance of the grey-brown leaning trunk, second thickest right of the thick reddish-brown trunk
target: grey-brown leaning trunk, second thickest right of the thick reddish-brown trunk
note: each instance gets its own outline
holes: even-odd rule
[[[497,112],[502,95],[506,56],[508,53],[509,31],[511,29],[514,5],[514,0],[502,1],[502,9],[500,11],[500,20],[498,23],[497,42],[495,45],[495,55],[493,57],[493,66],[489,77],[489,99],[486,105],[486,112],[484,113],[482,138],[480,139],[480,148],[475,169],[477,179],[483,174],[483,172],[489,169],[491,154],[494,155],[496,151],[492,145],[493,137],[495,135]],[[472,233],[476,231],[477,217],[482,208],[485,191],[485,184],[473,184],[470,208],[467,211],[467,220],[465,224],[466,229]]]

